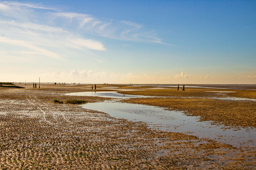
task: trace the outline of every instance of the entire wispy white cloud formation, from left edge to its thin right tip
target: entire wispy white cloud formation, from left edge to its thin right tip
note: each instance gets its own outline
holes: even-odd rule
[[[61,50],[63,46],[88,54],[90,52],[86,49],[106,50],[102,42],[86,38],[89,34],[118,40],[167,44],[157,37],[154,30],[138,23],[63,12],[38,3],[0,2],[0,16],[2,43],[23,46],[54,59],[65,56]]]

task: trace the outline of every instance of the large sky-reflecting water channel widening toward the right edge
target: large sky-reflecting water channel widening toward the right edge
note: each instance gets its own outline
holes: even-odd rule
[[[206,137],[219,142],[232,144],[233,146],[256,147],[256,130],[244,129],[220,129],[220,125],[210,125],[210,122],[198,122],[196,116],[186,116],[182,112],[166,111],[148,105],[137,105],[120,102],[97,102],[83,105],[86,109],[102,111],[115,118],[143,121],[153,124],[161,124],[160,130],[173,132],[188,132],[198,137]],[[153,125],[155,126],[155,125]],[[222,136],[222,137],[221,137]],[[252,140],[254,143],[249,142]],[[244,142],[244,144],[243,144]]]

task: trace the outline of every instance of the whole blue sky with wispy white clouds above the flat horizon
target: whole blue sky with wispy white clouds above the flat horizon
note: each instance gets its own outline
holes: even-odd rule
[[[255,84],[256,1],[0,0],[0,82]]]

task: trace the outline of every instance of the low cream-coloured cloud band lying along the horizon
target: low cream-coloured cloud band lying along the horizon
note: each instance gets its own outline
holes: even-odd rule
[[[178,75],[151,75],[151,74],[116,74],[108,73],[107,71],[92,71],[92,70],[76,70],[69,72],[46,72],[46,73],[0,73],[0,77],[4,82],[38,82],[40,77],[41,82],[65,82],[65,83],[109,83],[109,84],[229,84],[229,79],[236,79],[233,84],[255,84],[250,83],[256,79],[256,75],[247,75],[239,77],[214,77],[207,75],[189,75],[183,72]],[[15,80],[15,81],[14,81]]]

